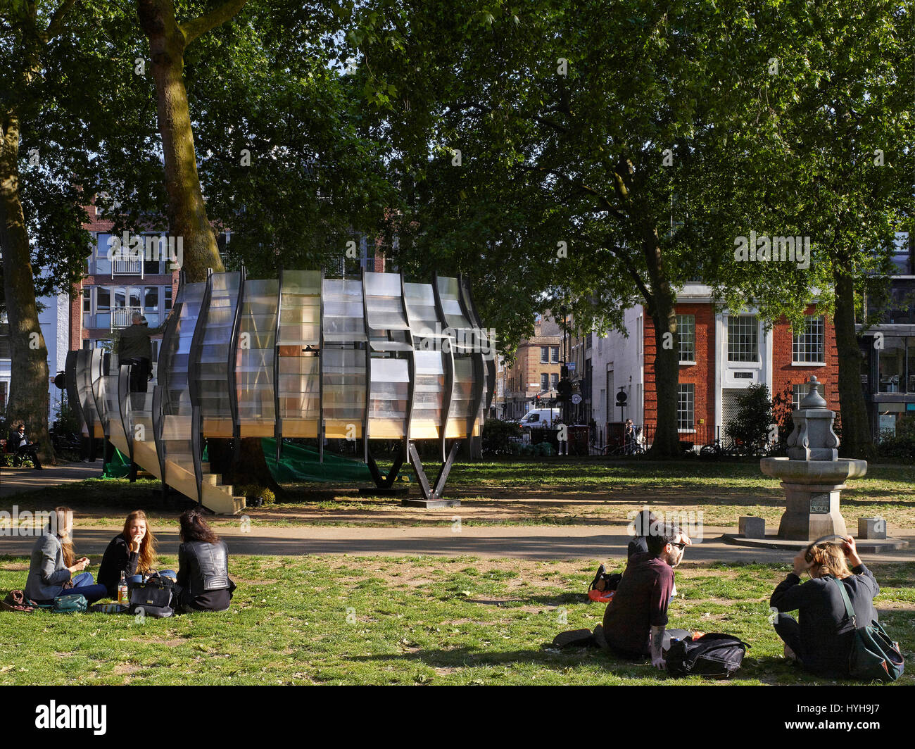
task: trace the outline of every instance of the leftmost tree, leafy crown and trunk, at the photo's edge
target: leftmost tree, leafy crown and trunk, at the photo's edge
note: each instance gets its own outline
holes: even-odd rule
[[[0,250],[10,323],[7,414],[48,440],[48,351],[38,296],[69,292],[88,254],[82,204],[97,189],[100,135],[124,131],[99,97],[120,92],[118,55],[101,32],[103,7],[75,0],[8,0],[0,7]],[[123,17],[123,16],[122,16]],[[109,112],[113,114],[109,116]]]

